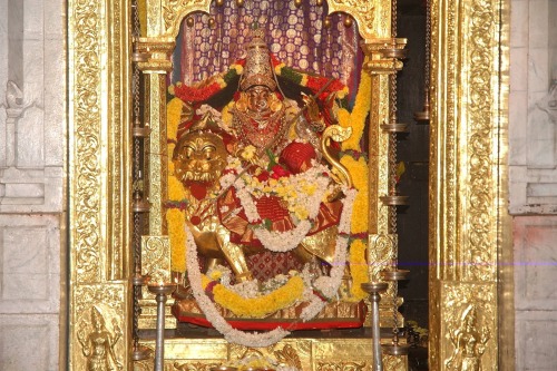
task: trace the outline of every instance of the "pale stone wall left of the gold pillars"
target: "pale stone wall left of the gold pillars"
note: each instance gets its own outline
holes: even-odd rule
[[[65,6],[0,1],[0,370],[58,370]],[[63,352],[62,352],[63,353]]]

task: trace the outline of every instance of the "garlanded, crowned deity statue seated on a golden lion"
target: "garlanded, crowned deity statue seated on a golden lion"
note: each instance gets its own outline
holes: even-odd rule
[[[350,136],[350,129],[334,125],[345,90],[335,79],[285,68],[261,30],[253,31],[246,58],[227,72],[197,86],[173,87],[179,102],[170,102],[169,110],[177,105],[179,119],[168,129],[173,150],[167,219],[170,245],[186,240],[194,294],[192,281],[205,282],[204,292],[223,285],[232,290],[229,295],[250,292],[241,294],[244,299],[272,295],[258,292],[266,283],[254,283],[246,263],[247,255],[262,251],[292,252],[306,273],[271,277],[273,285],[284,287],[300,283],[297,296],[272,310],[253,311],[260,315],[248,312],[246,303],[228,307],[238,316],[268,315],[301,303],[304,295],[312,300],[307,290],[317,293],[315,297],[336,294],[350,233],[353,197],[348,195],[354,192],[349,172],[331,149],[331,139]],[[173,224],[180,218],[190,241],[179,237],[183,228]],[[195,273],[198,264],[192,255],[205,258],[205,279]],[[242,283],[242,289],[234,286]],[[201,294],[195,297],[203,303]],[[218,302],[218,293],[214,295]],[[315,297],[307,318],[323,300]]]

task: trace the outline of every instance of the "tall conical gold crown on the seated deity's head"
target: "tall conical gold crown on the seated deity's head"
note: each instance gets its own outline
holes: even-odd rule
[[[275,90],[276,81],[271,66],[270,51],[265,43],[265,33],[262,29],[252,30],[250,33],[252,40],[246,48],[247,56],[240,89],[245,91],[253,86],[261,85]]]

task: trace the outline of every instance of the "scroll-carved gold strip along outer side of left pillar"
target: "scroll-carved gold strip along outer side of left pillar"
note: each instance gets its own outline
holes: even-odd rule
[[[78,282],[100,279],[100,56],[102,43],[98,25],[97,2],[74,3],[74,22],[70,35],[79,48],[70,59],[75,74],[70,72],[70,89],[74,88],[74,152],[71,179],[71,214],[74,227],[71,242]],[[71,52],[70,51],[70,52]],[[69,69],[70,71],[74,69]]]

